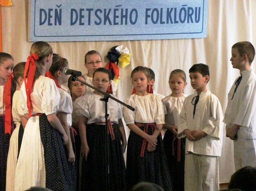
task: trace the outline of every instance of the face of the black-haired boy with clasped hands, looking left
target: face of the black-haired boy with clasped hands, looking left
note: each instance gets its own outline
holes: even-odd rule
[[[196,90],[204,91],[209,80],[209,76],[202,76],[199,72],[190,72],[189,78],[191,86]]]

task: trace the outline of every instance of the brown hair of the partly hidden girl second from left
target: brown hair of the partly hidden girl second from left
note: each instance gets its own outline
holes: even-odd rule
[[[18,78],[24,78],[25,65],[26,62],[20,62],[13,67],[13,78],[11,79],[11,99],[13,97],[13,93],[17,89]]]

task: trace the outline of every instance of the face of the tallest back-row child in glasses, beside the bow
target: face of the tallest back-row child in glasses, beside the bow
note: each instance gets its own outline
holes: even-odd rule
[[[102,67],[102,61],[100,59],[100,55],[99,54],[87,55],[85,67],[88,69],[89,75],[92,75],[97,68]]]

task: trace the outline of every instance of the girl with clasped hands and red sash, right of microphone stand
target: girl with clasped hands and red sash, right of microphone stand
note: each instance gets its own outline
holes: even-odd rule
[[[136,93],[125,100],[135,108],[124,108],[124,119],[131,130],[127,145],[127,188],[138,182],[152,182],[172,190],[163,139],[160,131],[165,123],[161,99],[147,93],[150,83],[149,70],[138,66],[131,72]]]

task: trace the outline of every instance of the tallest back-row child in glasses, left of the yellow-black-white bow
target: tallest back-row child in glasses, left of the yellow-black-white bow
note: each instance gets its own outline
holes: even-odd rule
[[[89,85],[92,85],[92,76],[93,76],[93,72],[99,68],[102,67],[103,62],[101,59],[101,55],[99,52],[97,52],[96,50],[90,50],[89,52],[87,52],[85,54],[85,67],[88,70],[87,74],[83,75],[85,77],[85,82],[88,83]],[[107,93],[112,93],[114,95],[116,95],[116,90],[117,90],[117,85],[116,83],[111,80],[111,89],[112,92],[108,92]],[[94,89],[86,86],[85,87],[85,93],[89,93],[89,92],[93,92]]]

